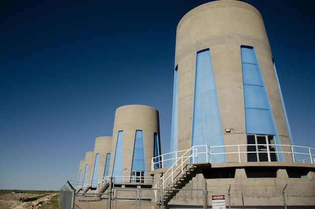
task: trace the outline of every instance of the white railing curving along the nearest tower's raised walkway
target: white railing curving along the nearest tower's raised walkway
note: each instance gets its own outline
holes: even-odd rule
[[[265,150],[257,149],[254,152],[249,152],[247,151],[247,148],[249,146],[266,146],[266,149]],[[270,147],[275,148],[275,151],[270,151]],[[225,150],[233,150],[234,152],[225,152]],[[213,157],[218,156],[218,155],[225,155],[226,157],[228,155],[236,155],[238,157],[238,162],[240,163],[248,162],[247,156],[244,157],[244,155],[247,155],[250,153],[256,153],[256,154],[267,153],[269,156],[268,161],[271,161],[270,154],[275,153],[278,157],[277,158],[278,161],[280,162],[281,161],[288,162],[288,160],[282,159],[281,156],[282,154],[289,154],[290,156],[292,156],[291,162],[315,164],[315,149],[309,148],[309,147],[292,146],[292,145],[255,145],[255,144],[253,145],[252,144],[251,145],[225,145],[225,146],[213,146],[213,147],[202,145],[202,146],[194,146],[190,148],[189,150],[167,153],[167,154],[163,154],[155,158],[152,158],[151,170],[153,171],[157,168],[177,166],[178,162],[183,159],[183,156],[187,155],[187,152],[194,153],[193,156],[189,156],[188,158],[191,158],[191,160],[193,160],[195,163],[200,163],[200,162],[212,163],[211,161],[213,161]]]

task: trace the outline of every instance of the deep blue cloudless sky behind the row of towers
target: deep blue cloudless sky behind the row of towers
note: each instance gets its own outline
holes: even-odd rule
[[[76,181],[122,105],[159,110],[168,153],[176,27],[206,2],[2,1],[0,189]],[[245,2],[264,18],[294,144],[315,148],[312,1]]]

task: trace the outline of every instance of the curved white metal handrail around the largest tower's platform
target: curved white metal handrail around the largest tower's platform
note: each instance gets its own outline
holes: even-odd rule
[[[276,148],[276,151],[270,151],[269,147],[266,151],[254,151],[254,152],[249,152],[249,151],[241,151],[241,148],[246,148],[248,146],[261,146],[258,144],[253,144],[253,145],[225,145],[225,146],[206,146],[206,145],[202,145],[202,146],[194,146],[192,148],[190,148],[189,150],[183,150],[183,151],[178,151],[178,152],[172,152],[172,153],[167,153],[167,154],[163,154],[157,157],[154,157],[151,159],[151,170],[155,170],[156,168],[166,168],[166,167],[173,167],[176,166],[174,164],[170,164],[170,162],[178,162],[183,155],[180,155],[181,153],[187,153],[189,151],[191,151],[192,149],[195,149],[196,153],[195,153],[195,158],[198,158],[198,156],[200,156],[201,154],[206,154],[207,158],[208,156],[214,156],[214,155],[229,155],[229,154],[238,154],[239,157],[239,162],[247,162],[247,161],[242,161],[241,155],[242,154],[248,154],[248,153],[276,153],[276,154],[290,154],[292,156],[292,161],[295,163],[311,163],[311,164],[315,164],[315,149],[313,148],[309,148],[309,147],[303,147],[303,146],[293,146],[293,145],[273,145],[273,144],[269,144],[266,146],[272,146]],[[207,152],[199,152],[198,147],[206,147],[206,151]],[[215,149],[215,148],[237,148],[236,152],[223,152],[223,153],[211,153],[211,150]],[[283,149],[281,148],[289,148],[290,151],[285,152],[282,151]],[[303,149],[304,152],[301,152],[300,149]],[[299,152],[297,152],[296,150],[299,150]],[[184,154],[184,155],[185,155]],[[175,156],[175,157],[174,157]],[[179,157],[180,156],[180,157]],[[304,157],[303,159],[296,159],[297,156],[307,156]],[[211,163],[211,158],[209,158],[210,163]],[[156,161],[156,162],[154,162]],[[208,162],[208,160],[207,160]]]

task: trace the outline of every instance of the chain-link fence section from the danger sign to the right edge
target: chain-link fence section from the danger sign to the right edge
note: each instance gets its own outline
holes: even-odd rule
[[[262,185],[261,185],[262,187]],[[286,184],[285,186],[264,185],[264,189],[253,186],[208,185],[208,199],[211,206],[212,196],[224,195],[226,208],[272,208],[297,209],[315,208],[315,189],[309,185]],[[301,199],[304,205],[301,204]]]

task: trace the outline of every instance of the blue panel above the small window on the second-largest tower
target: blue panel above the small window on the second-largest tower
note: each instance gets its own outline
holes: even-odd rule
[[[145,171],[142,130],[136,130],[131,170]]]

